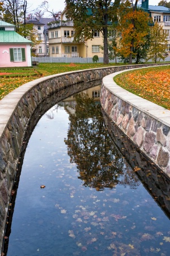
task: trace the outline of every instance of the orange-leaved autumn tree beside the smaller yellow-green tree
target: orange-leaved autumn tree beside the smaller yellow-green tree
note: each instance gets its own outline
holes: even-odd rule
[[[132,0],[127,0],[122,2],[120,9],[118,9],[117,30],[122,32],[118,52],[124,58],[129,58],[129,64],[137,55],[135,51],[145,45],[146,36],[149,32],[150,17],[148,13],[137,8],[137,3],[138,0],[135,0],[135,3]]]

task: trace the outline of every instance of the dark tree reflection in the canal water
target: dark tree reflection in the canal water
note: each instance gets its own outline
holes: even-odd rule
[[[85,93],[76,94],[75,101],[65,143],[70,162],[77,165],[78,178],[97,191],[117,184],[135,189],[138,177],[109,137],[100,104]]]

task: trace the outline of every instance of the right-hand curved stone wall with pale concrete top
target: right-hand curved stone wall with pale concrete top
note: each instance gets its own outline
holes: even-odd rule
[[[121,88],[113,80],[116,75],[103,79],[101,105],[105,113],[170,177],[170,111]]]

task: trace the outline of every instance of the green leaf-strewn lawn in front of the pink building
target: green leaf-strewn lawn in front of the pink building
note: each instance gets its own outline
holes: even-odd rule
[[[108,64],[107,67],[114,64]],[[103,63],[39,63],[33,68],[0,68],[0,100],[20,85],[35,80],[41,76],[49,76],[80,69],[106,67]],[[4,74],[5,73],[5,74]],[[4,74],[4,75],[2,75]]]

